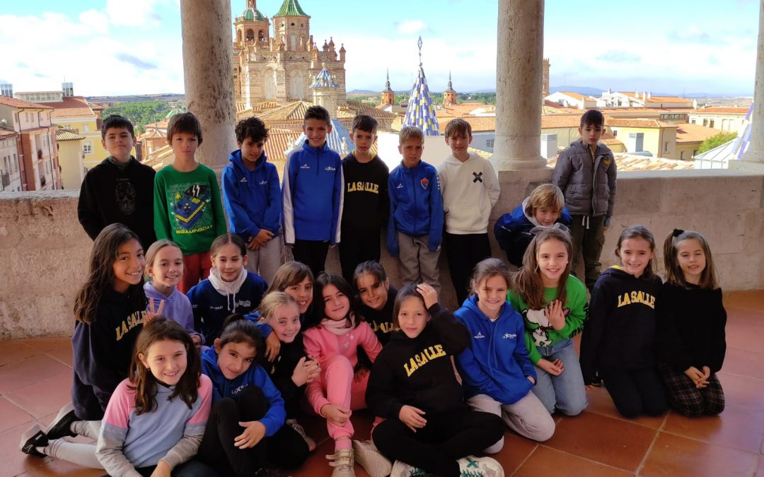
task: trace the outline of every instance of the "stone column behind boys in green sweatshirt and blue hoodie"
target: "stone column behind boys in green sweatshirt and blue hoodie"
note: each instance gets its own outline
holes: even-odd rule
[[[204,133],[196,156],[220,176],[236,149],[231,2],[180,2],[180,19],[186,104]]]

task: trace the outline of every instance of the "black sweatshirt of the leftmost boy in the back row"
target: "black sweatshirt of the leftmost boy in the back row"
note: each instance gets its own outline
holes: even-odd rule
[[[154,169],[131,157],[125,170],[108,159],[88,171],[79,189],[77,217],[95,240],[109,224],[134,231],[144,250],[157,240],[154,234]]]

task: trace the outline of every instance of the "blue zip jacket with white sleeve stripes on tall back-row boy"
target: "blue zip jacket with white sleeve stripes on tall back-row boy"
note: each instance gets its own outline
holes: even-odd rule
[[[284,166],[282,200],[284,242],[320,240],[340,241],[340,217],[344,179],[338,153],[310,147],[308,140],[292,150]]]

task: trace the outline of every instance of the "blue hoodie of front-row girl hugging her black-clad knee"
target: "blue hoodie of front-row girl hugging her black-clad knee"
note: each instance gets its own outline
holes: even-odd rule
[[[268,401],[268,411],[259,421],[265,426],[265,435],[273,436],[284,424],[286,411],[284,401],[279,390],[257,362],[252,362],[246,372],[241,373],[234,379],[225,379],[223,372],[218,366],[218,353],[210,346],[202,353],[202,372],[212,381],[212,402],[222,398],[231,398],[234,401],[242,389],[247,386],[260,388]]]

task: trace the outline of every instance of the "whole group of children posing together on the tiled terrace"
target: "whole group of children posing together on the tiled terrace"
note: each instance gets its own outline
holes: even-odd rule
[[[261,121],[238,124],[241,149],[223,173],[231,234],[214,173],[194,160],[193,115],[170,122],[176,162],[156,177],[129,156],[131,127],[107,118],[112,156],[89,172],[80,198],[95,243],[75,301],[73,401],[46,429],[24,433],[24,453],[109,475],[269,475],[315,450],[297,419],[317,414],[335,444],[334,477],[354,475],[356,461],[374,477],[503,475],[475,455],[499,452],[505,425],[549,439],[552,414],[580,414],[600,380],[626,417],[669,404],[688,416],[724,410],[715,373],[726,313],[704,237],[666,237],[662,283],[654,237],[627,227],[620,265],[599,274],[616,172],[597,142],[598,111],[581,119],[582,140],[559,157],[555,184],[497,222],[513,272],[490,258],[498,181],[468,152],[469,124],[448,124],[452,156],[439,170],[421,160],[421,131],[404,127],[403,161],[387,175],[371,155],[372,118],[355,119],[357,149],[339,161],[321,110],[306,113],[307,139],[287,159],[282,188]],[[147,178],[154,230],[137,217]],[[400,290],[379,263],[384,221]],[[281,230],[296,257],[283,265]],[[453,313],[439,305],[441,240],[457,293],[464,288]],[[343,276],[322,272],[336,244]],[[578,253],[586,285],[572,273]],[[351,416],[363,408],[377,417],[371,440],[354,439]],[[76,435],[95,443],[66,438]]]

